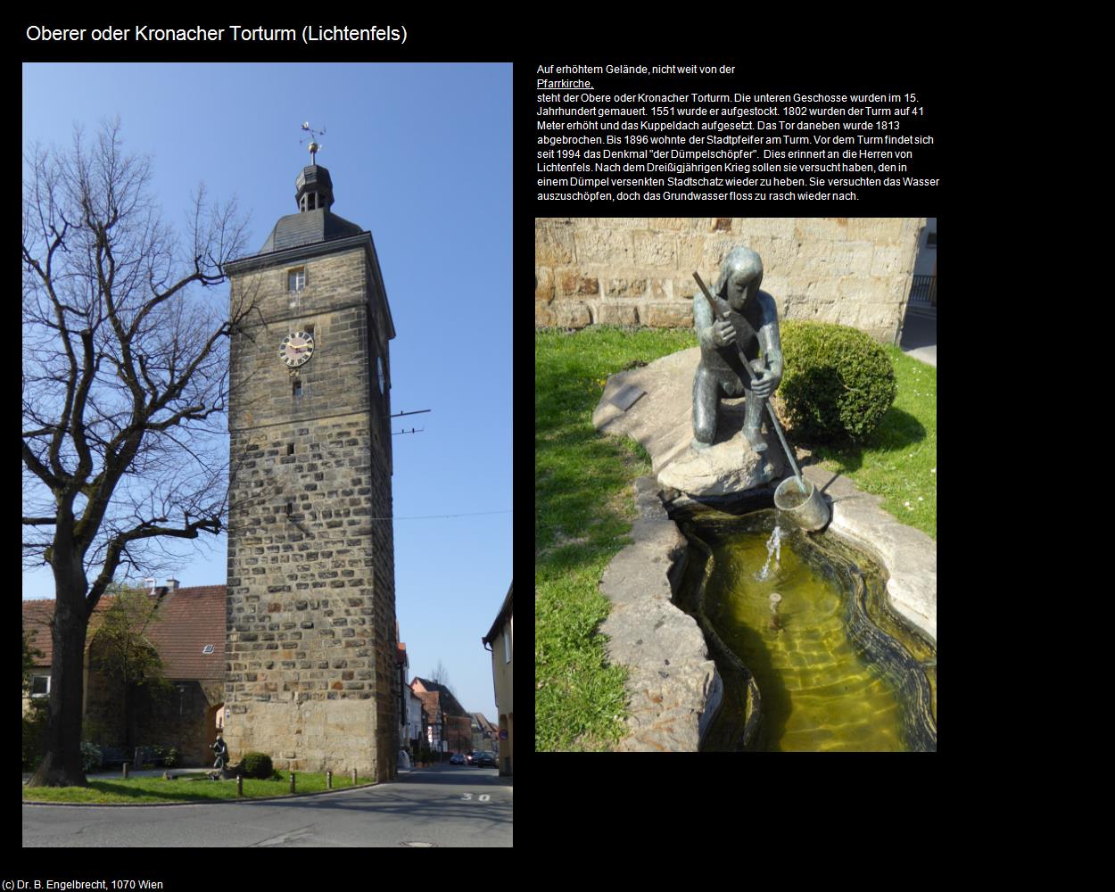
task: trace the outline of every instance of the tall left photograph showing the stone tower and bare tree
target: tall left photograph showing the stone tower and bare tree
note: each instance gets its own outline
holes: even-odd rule
[[[25,803],[511,845],[511,66],[26,65],[22,156]]]

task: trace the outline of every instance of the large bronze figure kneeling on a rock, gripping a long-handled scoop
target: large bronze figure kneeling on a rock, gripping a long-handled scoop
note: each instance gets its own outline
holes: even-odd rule
[[[744,436],[756,453],[767,448],[760,425],[763,406],[782,381],[782,341],[774,298],[759,291],[763,261],[749,248],[734,248],[724,260],[712,289],[726,320],[712,316],[708,301],[694,304],[694,328],[700,342],[700,365],[694,379],[694,448],[707,449],[716,438],[721,395],[747,397]],[[743,367],[741,347],[756,381]],[[760,356],[762,352],[762,356]]]

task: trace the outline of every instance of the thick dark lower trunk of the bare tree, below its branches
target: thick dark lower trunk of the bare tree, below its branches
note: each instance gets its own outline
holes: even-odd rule
[[[84,586],[83,586],[84,589]],[[61,595],[61,590],[56,590]],[[47,754],[29,787],[85,787],[81,764],[81,704],[87,619],[61,597],[55,601]],[[78,603],[84,605],[84,597]]]

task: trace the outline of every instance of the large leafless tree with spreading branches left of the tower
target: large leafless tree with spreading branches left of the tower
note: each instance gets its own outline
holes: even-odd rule
[[[202,187],[176,237],[118,120],[25,162],[23,562],[50,565],[56,595],[47,753],[30,784],[85,785],[97,601],[118,571],[151,573],[167,542],[225,523],[229,334],[252,307],[204,289],[243,253],[245,222]]]

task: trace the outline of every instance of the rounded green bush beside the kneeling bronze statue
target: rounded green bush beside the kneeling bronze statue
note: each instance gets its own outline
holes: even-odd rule
[[[778,388],[798,442],[865,440],[898,395],[890,357],[862,331],[825,322],[780,326]]]

